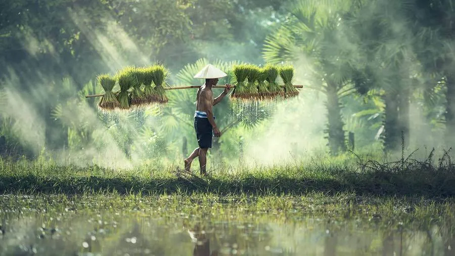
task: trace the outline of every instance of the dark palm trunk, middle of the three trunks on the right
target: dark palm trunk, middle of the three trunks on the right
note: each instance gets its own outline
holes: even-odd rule
[[[384,151],[393,151],[400,148],[400,126],[398,122],[398,95],[388,93],[384,95]]]

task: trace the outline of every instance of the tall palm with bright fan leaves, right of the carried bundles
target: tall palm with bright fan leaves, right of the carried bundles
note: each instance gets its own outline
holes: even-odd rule
[[[350,1],[299,1],[288,20],[265,41],[263,57],[271,63],[306,58],[311,89],[327,96],[328,146],[334,155],[346,150],[340,98],[353,92],[348,60],[355,49],[344,47],[343,13]]]

